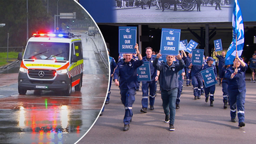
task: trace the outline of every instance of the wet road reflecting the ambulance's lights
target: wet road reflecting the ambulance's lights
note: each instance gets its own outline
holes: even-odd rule
[[[81,35],[81,92],[73,89],[70,96],[61,96],[55,92],[28,91],[19,95],[18,74],[0,74],[0,143],[75,143],[90,129],[105,101],[108,69],[95,50],[97,47],[106,52],[101,38]],[[107,53],[103,55],[107,59]]]

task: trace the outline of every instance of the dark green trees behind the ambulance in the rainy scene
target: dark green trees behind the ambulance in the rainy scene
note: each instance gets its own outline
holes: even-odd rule
[[[57,2],[58,14],[76,12],[76,20],[84,20],[88,17],[87,13],[73,0],[28,0],[28,38],[36,31],[53,31]],[[0,28],[0,47],[6,47],[7,33],[9,33],[10,47],[26,45],[26,18],[26,0],[0,0],[0,23],[6,23],[6,26]],[[72,20],[59,19],[58,25],[61,26],[61,23],[70,25],[73,23]]]

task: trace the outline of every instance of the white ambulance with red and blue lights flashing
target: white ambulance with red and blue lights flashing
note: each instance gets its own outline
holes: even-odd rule
[[[73,33],[33,33],[18,54],[18,94],[50,90],[70,96],[82,87],[82,41]]]

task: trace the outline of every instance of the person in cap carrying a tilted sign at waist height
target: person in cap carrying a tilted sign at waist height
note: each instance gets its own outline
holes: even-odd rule
[[[207,65],[203,66],[203,70],[212,68],[214,71],[214,74],[216,76],[217,70],[215,65],[213,65],[213,57],[208,57],[207,59]],[[217,77],[215,77],[217,80]],[[210,106],[213,106],[213,101],[214,101],[214,92],[215,92],[215,85],[210,86],[210,87],[205,87],[205,96],[206,96],[206,102],[208,102],[209,99],[209,94],[210,94]]]

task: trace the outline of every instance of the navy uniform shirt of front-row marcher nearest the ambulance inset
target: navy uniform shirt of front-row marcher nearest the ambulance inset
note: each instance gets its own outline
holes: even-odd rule
[[[124,62],[124,59],[117,62],[117,68],[114,71],[114,79],[119,78],[120,89],[131,89],[136,87],[137,68],[143,64],[142,60],[132,59],[130,62]]]

